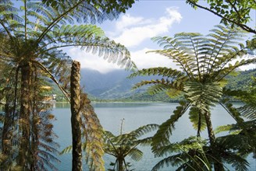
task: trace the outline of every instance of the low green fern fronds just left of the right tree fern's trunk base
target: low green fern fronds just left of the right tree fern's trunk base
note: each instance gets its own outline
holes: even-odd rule
[[[176,170],[212,170],[207,156],[210,154],[207,154],[208,150],[203,148],[206,145],[207,141],[190,137],[183,141],[163,146],[159,156],[164,157],[171,153],[175,154],[162,159],[152,170],[159,170],[165,166],[177,167]]]

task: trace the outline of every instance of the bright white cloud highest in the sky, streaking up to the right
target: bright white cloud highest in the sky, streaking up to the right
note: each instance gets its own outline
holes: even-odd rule
[[[122,28],[121,35],[116,36],[114,40],[126,47],[133,47],[139,45],[142,41],[158,36],[159,34],[168,33],[169,28],[173,23],[180,23],[182,16],[178,9],[170,7],[165,11],[166,16],[162,16],[158,20],[144,19],[141,17],[133,17],[130,15],[123,16],[123,18],[116,23],[116,28]]]

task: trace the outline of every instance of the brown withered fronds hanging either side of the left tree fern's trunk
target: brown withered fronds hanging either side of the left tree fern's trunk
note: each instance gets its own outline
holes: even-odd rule
[[[3,70],[6,71],[6,70]],[[1,72],[3,72],[1,71]],[[40,86],[44,86],[43,76],[40,72],[35,71],[33,79],[37,82],[31,89],[30,96],[34,101],[32,106],[33,115],[29,120],[23,120],[16,115],[18,111],[14,110],[15,104],[12,103],[12,98],[14,98],[14,87],[12,82],[15,82],[15,77],[5,73],[2,75],[8,86],[2,91],[3,100],[5,104],[3,105],[3,113],[1,120],[1,150],[5,158],[0,162],[0,168],[2,170],[23,170],[22,166],[19,166],[19,155],[20,155],[20,141],[24,141],[23,134],[19,131],[17,125],[23,125],[25,127],[30,127],[29,137],[30,141],[26,141],[27,151],[27,168],[47,170],[56,170],[55,162],[60,162],[58,159],[59,145],[55,142],[57,135],[53,132],[52,122],[55,120],[54,115],[52,115],[50,106],[46,103],[41,103],[44,99],[45,89],[41,89]],[[20,86],[18,86],[20,89]],[[20,100],[20,96],[17,97]],[[0,105],[2,106],[2,105]]]

